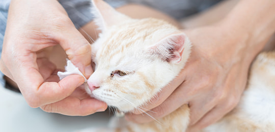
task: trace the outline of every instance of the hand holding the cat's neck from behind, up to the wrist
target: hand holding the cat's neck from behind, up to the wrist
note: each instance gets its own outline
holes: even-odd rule
[[[261,48],[252,47],[243,32],[229,28],[218,23],[184,30],[193,43],[184,69],[152,98],[150,105],[141,108],[151,110],[147,113],[158,119],[189,104],[190,131],[206,127],[231,111],[245,88],[250,64]],[[139,111],[126,118],[139,123],[153,120]]]

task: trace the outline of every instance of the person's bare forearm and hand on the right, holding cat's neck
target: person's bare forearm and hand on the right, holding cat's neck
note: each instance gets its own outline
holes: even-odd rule
[[[274,7],[273,0],[242,0],[223,20],[183,30],[194,45],[191,56],[173,83],[143,106],[153,111],[147,113],[157,119],[188,103],[189,130],[196,130],[231,111],[244,90],[250,64],[275,31]],[[139,112],[127,118],[153,120]]]

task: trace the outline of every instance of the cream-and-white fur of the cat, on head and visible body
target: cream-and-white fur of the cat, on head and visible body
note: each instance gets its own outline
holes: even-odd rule
[[[120,111],[140,109],[184,67],[190,41],[162,20],[131,19],[101,0],[93,4],[102,33],[92,44],[96,68],[86,91]],[[275,53],[260,54],[251,71],[240,104],[204,131],[275,131]],[[158,121],[87,131],[185,131],[188,121],[183,105]]]

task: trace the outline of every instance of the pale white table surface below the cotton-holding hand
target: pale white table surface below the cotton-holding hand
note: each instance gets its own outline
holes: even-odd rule
[[[20,93],[0,87],[0,131],[75,131],[92,126],[106,126],[109,112],[90,116],[64,116],[31,108]],[[112,114],[111,114],[112,115]]]

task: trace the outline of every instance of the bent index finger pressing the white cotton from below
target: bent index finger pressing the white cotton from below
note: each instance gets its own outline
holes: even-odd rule
[[[35,74],[33,74],[35,75]],[[56,75],[52,75],[56,76]],[[57,76],[56,76],[57,77]],[[22,80],[32,80],[34,76]],[[60,100],[63,100],[69,96],[76,87],[84,83],[84,78],[80,75],[70,75],[60,82],[43,82],[44,80],[40,76],[39,82],[32,82],[28,84],[19,84],[19,88],[22,91],[22,94],[26,102],[31,107],[40,107],[42,105],[54,103]],[[19,82],[21,83],[21,81]],[[33,84],[33,85],[32,85]]]

